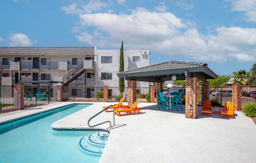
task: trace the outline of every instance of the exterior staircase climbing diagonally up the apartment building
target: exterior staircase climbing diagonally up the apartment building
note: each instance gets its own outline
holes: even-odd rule
[[[84,69],[84,63],[82,63],[63,77],[63,86],[68,86],[71,82],[84,74],[84,72],[86,72],[86,69]]]

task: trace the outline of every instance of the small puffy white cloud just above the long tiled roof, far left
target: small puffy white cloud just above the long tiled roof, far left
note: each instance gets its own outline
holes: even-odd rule
[[[28,36],[23,33],[13,33],[9,37],[9,40],[10,40],[10,42],[9,42],[10,46],[26,47],[26,46],[32,46],[33,44],[35,44],[35,43],[33,43],[33,40],[28,38]]]

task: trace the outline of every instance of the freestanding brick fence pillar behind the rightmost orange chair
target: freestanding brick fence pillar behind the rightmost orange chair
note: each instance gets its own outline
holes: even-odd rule
[[[242,87],[241,85],[232,85],[232,103],[236,110],[242,109]]]

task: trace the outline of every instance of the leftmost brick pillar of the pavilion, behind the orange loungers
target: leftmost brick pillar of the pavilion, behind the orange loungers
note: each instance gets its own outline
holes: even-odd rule
[[[136,80],[127,80],[127,102],[129,106],[137,100],[137,81]]]

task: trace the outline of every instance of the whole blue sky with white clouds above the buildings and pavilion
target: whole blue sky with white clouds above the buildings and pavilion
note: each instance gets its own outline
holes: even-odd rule
[[[150,51],[150,65],[203,62],[216,74],[256,60],[256,0],[1,0],[0,46]]]

